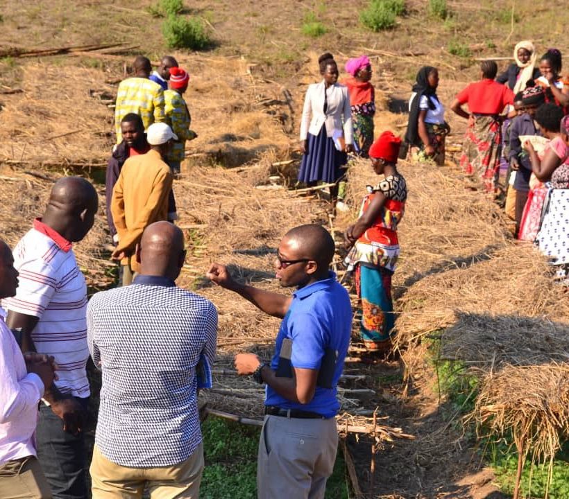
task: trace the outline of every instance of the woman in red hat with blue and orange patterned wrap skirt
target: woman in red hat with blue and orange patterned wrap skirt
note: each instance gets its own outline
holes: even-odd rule
[[[373,171],[384,178],[377,186],[368,186],[359,218],[346,230],[353,245],[346,263],[348,272],[355,270],[362,306],[360,334],[373,351],[389,350],[394,333],[391,276],[399,256],[397,225],[407,200],[407,184],[396,166],[400,146],[401,139],[391,132],[383,132],[371,146]]]

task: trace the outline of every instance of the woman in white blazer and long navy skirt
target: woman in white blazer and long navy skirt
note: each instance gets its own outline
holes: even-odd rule
[[[335,204],[337,182],[343,176],[346,152],[353,152],[353,128],[348,89],[338,83],[338,67],[332,54],[319,57],[323,80],[309,85],[300,121],[300,164],[298,180],[309,186],[333,183],[330,200]]]

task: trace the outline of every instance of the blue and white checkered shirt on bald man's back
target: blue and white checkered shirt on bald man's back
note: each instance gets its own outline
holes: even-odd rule
[[[103,371],[95,443],[121,466],[171,466],[202,439],[196,366],[211,386],[217,311],[172,281],[139,278],[87,306],[89,349]]]

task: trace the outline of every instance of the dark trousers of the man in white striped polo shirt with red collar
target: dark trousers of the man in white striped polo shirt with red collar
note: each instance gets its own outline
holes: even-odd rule
[[[77,399],[87,410],[86,399]],[[53,499],[85,499],[85,439],[83,433],[63,431],[63,420],[44,403],[35,430],[37,459],[51,487]]]

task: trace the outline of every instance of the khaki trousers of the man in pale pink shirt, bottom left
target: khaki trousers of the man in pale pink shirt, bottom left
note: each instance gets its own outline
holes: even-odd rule
[[[0,464],[0,499],[51,499],[49,484],[34,456]]]

